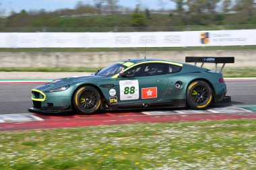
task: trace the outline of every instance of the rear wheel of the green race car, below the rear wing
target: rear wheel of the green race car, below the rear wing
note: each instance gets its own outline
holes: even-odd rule
[[[187,88],[187,104],[191,109],[203,110],[212,99],[212,87],[205,81],[193,81]]]

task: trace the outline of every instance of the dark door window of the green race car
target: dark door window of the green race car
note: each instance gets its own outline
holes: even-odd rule
[[[164,75],[168,73],[168,65],[158,62],[150,62],[137,65],[129,69],[129,71],[134,71],[134,77]]]

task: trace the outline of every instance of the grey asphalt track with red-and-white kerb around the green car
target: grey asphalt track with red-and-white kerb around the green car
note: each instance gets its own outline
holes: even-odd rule
[[[32,107],[31,89],[39,84],[0,84],[0,130],[60,128],[138,122],[177,122],[221,120],[236,118],[256,119],[256,80],[226,81],[231,103],[216,103],[208,110],[181,109],[130,110],[100,112],[95,115],[29,114]],[[247,110],[243,105],[254,105]],[[2,123],[1,123],[2,122]],[[26,123],[25,123],[26,122]]]

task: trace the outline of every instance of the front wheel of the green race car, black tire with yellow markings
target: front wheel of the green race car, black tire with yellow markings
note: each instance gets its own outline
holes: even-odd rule
[[[79,87],[72,99],[73,109],[79,114],[94,114],[101,105],[100,93],[95,87]]]

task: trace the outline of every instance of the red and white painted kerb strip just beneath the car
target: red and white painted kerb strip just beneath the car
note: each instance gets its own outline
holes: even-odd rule
[[[245,108],[239,108],[236,106],[228,106],[225,108],[212,108],[209,110],[162,110],[162,111],[151,111],[151,112],[117,112],[117,113],[104,113],[104,114],[93,114],[93,115],[72,115],[72,116],[45,116],[40,114],[1,114],[0,124],[7,122],[33,122],[33,121],[44,121],[44,120],[75,120],[75,119],[86,119],[86,120],[97,120],[112,117],[112,122],[115,122],[115,118],[128,118],[128,117],[145,117],[145,116],[221,116],[222,114],[232,115],[243,115],[243,114],[254,114],[256,113],[247,110]],[[147,119],[147,118],[145,118]]]

